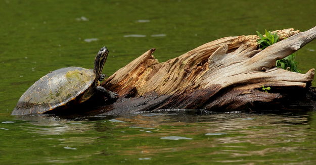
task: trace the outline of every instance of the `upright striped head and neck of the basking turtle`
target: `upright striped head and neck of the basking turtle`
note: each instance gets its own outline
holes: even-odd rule
[[[95,67],[93,71],[96,73],[97,79],[101,75],[104,63],[106,62],[108,58],[108,54],[109,54],[109,50],[106,47],[102,47],[96,56]]]

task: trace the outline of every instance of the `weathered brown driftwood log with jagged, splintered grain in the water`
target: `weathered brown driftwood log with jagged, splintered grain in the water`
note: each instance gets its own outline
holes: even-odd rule
[[[281,41],[264,50],[258,49],[256,35],[225,37],[159,63],[152,48],[102,84],[117,92],[119,99],[89,114],[118,115],[169,108],[241,111],[304,95],[314,69],[294,73],[276,68],[276,60],[315,39],[316,27],[305,32],[275,32]],[[264,92],[262,86],[271,90]]]

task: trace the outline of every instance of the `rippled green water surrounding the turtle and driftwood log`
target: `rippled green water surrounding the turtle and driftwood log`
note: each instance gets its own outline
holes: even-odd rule
[[[316,26],[315,7],[312,0],[1,1],[0,164],[315,164],[312,108],[77,120],[10,115],[41,76],[92,68],[103,46],[110,50],[104,73],[111,75],[152,47],[164,62],[225,36],[305,31]],[[298,51],[302,72],[316,68],[315,51],[315,41]]]

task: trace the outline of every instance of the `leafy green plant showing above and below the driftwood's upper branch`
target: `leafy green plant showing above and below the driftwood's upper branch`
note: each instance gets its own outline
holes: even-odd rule
[[[270,31],[266,31],[265,29],[265,33],[263,36],[262,34],[260,34],[258,31],[258,36],[260,37],[260,39],[257,40],[257,43],[259,44],[259,48],[261,49],[265,49],[266,47],[279,42],[280,37],[278,36],[278,33],[272,33]],[[291,72],[298,72],[300,73],[301,71],[297,68],[297,62],[295,61],[295,54],[290,54],[288,57],[281,59],[281,60],[277,60],[276,61],[276,66],[278,68],[282,68]]]

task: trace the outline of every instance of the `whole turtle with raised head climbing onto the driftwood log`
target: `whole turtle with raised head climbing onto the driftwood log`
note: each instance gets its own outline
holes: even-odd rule
[[[82,103],[96,93],[108,99],[117,99],[117,93],[100,86],[100,81],[106,77],[101,72],[108,54],[106,47],[100,49],[94,69],[66,67],[41,77],[22,94],[12,115],[43,114],[69,106],[70,102]]]

